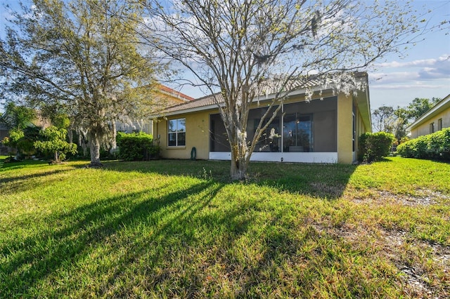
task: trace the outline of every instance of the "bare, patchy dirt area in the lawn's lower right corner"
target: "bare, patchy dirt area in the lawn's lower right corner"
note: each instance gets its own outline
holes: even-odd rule
[[[406,298],[450,298],[450,246],[416,239],[411,241],[407,232],[399,230],[378,228],[372,231],[364,225],[347,223],[340,227],[328,227],[321,223],[310,225],[318,232],[344,239],[354,246],[368,246],[371,243],[373,254],[381,255],[397,267],[399,284],[403,285]],[[427,257],[433,262],[428,269],[424,265]],[[420,259],[423,260],[421,263]],[[434,270],[441,272],[440,277]]]

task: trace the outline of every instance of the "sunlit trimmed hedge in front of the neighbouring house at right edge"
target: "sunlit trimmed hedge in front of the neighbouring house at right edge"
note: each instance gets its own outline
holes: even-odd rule
[[[401,143],[397,152],[406,158],[450,160],[450,128]]]

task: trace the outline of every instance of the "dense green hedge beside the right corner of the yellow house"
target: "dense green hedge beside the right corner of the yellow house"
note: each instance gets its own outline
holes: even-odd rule
[[[394,135],[377,132],[364,133],[359,136],[358,160],[361,162],[380,161],[390,154]]]

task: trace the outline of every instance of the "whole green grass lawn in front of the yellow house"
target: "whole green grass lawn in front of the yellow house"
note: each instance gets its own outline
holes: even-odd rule
[[[0,168],[1,298],[448,298],[450,164]]]

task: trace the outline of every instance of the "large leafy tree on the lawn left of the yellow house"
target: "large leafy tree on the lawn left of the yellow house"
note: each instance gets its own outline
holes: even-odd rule
[[[158,65],[137,46],[142,18],[134,2],[33,0],[14,13],[0,41],[5,95],[32,107],[63,107],[86,132],[91,166],[101,165],[101,145],[114,140],[117,119],[153,107],[148,94]]]

